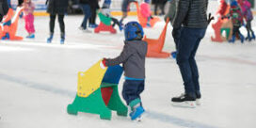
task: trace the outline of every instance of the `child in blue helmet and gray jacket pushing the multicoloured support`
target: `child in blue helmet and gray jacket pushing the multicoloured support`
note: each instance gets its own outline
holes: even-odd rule
[[[143,28],[137,22],[130,22],[124,26],[124,47],[120,56],[103,60],[104,66],[114,66],[122,63],[125,82],[122,97],[131,107],[131,120],[139,120],[144,108],[141,104],[140,93],[144,90],[145,57],[147,42],[143,41]]]

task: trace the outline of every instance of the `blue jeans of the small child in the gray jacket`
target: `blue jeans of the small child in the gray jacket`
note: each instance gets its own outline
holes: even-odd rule
[[[122,97],[129,105],[137,98],[140,99],[140,93],[144,90],[144,80],[125,80],[122,88]]]

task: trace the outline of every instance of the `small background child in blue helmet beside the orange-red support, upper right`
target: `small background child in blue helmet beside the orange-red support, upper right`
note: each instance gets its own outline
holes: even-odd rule
[[[244,42],[244,36],[241,34],[239,28],[243,24],[243,16],[241,12],[241,8],[239,8],[237,2],[234,0],[231,4],[231,11],[228,16],[225,17],[232,17],[232,39],[229,42],[234,42],[236,34],[239,35],[241,42]]]

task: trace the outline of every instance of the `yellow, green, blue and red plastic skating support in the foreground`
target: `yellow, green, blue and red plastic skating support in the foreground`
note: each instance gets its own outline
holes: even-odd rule
[[[102,68],[101,61],[78,73],[77,94],[67,107],[69,114],[85,112],[111,120],[111,110],[115,110],[119,116],[127,116],[128,108],[122,104],[118,89],[123,70],[120,66]]]

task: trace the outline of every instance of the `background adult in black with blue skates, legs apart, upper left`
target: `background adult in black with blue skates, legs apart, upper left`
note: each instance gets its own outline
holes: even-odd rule
[[[47,12],[50,13],[50,37],[47,39],[51,43],[55,33],[56,15],[60,27],[60,43],[65,41],[65,23],[64,15],[67,13],[69,0],[46,0]]]

